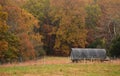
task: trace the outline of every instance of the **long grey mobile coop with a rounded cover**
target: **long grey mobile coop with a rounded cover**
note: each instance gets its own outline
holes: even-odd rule
[[[99,59],[104,61],[106,59],[105,49],[92,49],[92,48],[72,48],[70,58],[72,62],[78,62],[79,60],[93,60]]]

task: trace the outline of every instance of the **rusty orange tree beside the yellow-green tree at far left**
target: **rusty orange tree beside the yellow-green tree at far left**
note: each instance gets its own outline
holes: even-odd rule
[[[38,20],[16,5],[5,5],[4,11],[8,13],[9,31],[20,38],[20,59],[36,58],[37,51],[35,51],[35,47],[41,45],[41,36],[34,32],[34,28],[39,28],[37,26]],[[37,37],[39,37],[39,40],[36,40]]]

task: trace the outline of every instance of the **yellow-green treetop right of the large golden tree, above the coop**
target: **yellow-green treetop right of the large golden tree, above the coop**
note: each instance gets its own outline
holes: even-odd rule
[[[88,28],[95,28],[98,25],[98,20],[101,16],[101,9],[100,6],[95,4],[90,4],[86,7],[86,26]]]

